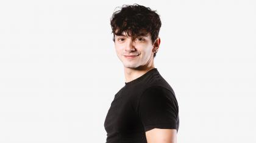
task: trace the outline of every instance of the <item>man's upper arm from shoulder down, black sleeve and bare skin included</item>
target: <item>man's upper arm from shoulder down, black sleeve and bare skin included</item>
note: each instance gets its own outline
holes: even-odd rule
[[[138,114],[149,143],[177,142],[179,106],[171,91],[152,86],[141,95]]]

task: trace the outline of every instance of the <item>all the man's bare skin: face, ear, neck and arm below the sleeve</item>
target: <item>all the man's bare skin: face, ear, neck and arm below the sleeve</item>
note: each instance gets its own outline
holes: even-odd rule
[[[148,72],[154,66],[154,52],[158,51],[160,38],[152,43],[151,35],[129,37],[126,32],[122,35],[115,35],[116,55],[124,66],[126,82],[130,82]],[[137,55],[128,58],[126,55]],[[176,129],[154,128],[146,131],[148,143],[176,143]]]

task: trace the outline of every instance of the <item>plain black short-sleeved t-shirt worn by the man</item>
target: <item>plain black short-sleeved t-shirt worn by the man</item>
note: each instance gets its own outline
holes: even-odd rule
[[[125,82],[104,122],[107,143],[146,143],[153,128],[179,130],[179,106],[171,86],[157,68]]]

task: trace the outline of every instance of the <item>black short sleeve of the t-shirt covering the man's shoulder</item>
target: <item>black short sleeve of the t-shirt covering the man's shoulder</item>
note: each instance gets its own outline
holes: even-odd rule
[[[147,88],[138,102],[138,116],[144,131],[153,128],[178,130],[179,106],[174,94],[162,86]]]

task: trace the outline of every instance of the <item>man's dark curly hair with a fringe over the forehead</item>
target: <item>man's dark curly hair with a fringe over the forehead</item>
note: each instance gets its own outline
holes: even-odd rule
[[[149,7],[138,4],[124,4],[121,10],[114,12],[110,18],[114,42],[115,35],[121,35],[123,32],[127,32],[129,37],[147,35],[149,33],[152,44],[154,44],[161,24],[160,15],[156,13],[156,10],[151,10]],[[156,52],[154,57],[155,55]]]

